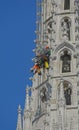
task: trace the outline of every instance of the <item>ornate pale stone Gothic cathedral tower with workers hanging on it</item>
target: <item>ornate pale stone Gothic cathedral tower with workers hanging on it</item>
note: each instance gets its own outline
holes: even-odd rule
[[[36,57],[22,130],[79,130],[79,0],[36,4]]]

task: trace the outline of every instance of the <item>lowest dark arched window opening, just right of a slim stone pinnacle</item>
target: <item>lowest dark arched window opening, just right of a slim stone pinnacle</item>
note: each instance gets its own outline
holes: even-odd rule
[[[71,94],[72,94],[72,89],[71,89],[71,84],[68,83],[67,81],[64,81],[64,96],[66,100],[66,105],[71,105]]]

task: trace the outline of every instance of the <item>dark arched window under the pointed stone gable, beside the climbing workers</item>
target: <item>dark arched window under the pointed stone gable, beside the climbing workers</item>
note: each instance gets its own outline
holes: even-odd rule
[[[71,71],[71,55],[68,54],[68,51],[64,51],[64,55],[61,56],[62,60],[62,73]]]

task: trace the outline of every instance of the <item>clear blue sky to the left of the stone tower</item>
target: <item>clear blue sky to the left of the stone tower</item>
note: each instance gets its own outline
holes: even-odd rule
[[[35,0],[0,0],[0,130],[16,130],[34,56]]]

